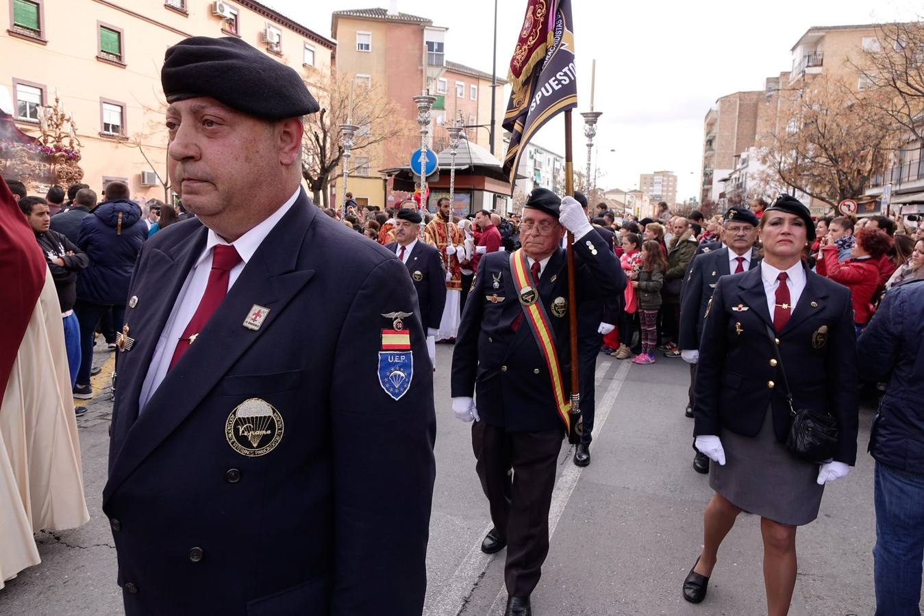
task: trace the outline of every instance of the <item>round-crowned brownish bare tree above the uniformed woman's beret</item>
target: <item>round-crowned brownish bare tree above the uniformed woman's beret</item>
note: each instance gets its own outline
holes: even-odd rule
[[[785,97],[777,129],[762,138],[760,160],[770,177],[762,184],[784,185],[833,207],[856,199],[884,172],[894,144],[881,96],[853,97],[843,83],[824,77]]]

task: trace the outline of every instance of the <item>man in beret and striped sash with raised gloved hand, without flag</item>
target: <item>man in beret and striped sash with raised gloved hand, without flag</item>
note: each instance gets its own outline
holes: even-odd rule
[[[475,469],[494,524],[481,550],[509,546],[508,616],[531,613],[529,595],[549,550],[558,453],[570,425],[567,315],[574,307],[566,299],[565,229],[575,236],[579,301],[612,297],[626,286],[613,250],[593,233],[577,200],[536,188],[524,208],[523,248],[488,253],[479,263],[452,375],[453,413],[476,420]]]

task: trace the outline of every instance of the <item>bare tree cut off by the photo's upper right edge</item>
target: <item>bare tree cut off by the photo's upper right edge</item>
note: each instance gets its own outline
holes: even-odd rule
[[[878,119],[924,141],[924,22],[881,24],[876,35],[876,44],[848,62],[864,85],[859,96],[879,93],[870,102],[881,112]]]

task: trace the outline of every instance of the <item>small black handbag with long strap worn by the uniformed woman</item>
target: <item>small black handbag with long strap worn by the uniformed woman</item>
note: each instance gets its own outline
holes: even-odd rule
[[[770,334],[770,344],[783,380],[786,404],[789,405],[791,423],[786,435],[786,451],[806,462],[824,464],[833,458],[837,448],[837,419],[830,413],[810,408],[796,410],[793,406],[793,393],[789,389],[789,381],[786,380],[783,357],[780,356],[780,349],[776,344],[776,334],[769,325],[767,333]]]

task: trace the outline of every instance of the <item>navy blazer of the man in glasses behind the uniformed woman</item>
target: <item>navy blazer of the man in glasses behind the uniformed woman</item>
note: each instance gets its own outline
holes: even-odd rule
[[[751,248],[749,270],[753,270],[760,263],[756,252]],[[677,345],[682,350],[696,350],[699,348],[699,338],[702,335],[702,325],[705,322],[706,306],[712,297],[712,289],[719,282],[719,278],[729,275],[731,263],[728,262],[728,248],[700,252],[693,258],[687,281],[684,284],[684,293],[680,297],[680,338]]]

